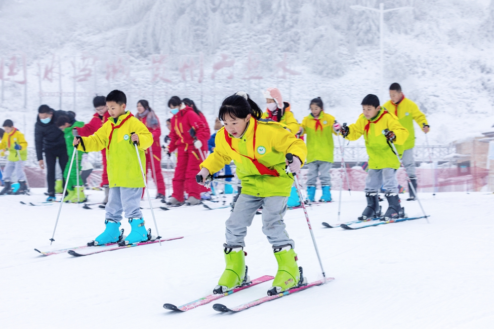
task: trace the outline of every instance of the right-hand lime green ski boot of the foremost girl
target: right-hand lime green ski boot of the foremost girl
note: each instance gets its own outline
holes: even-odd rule
[[[288,289],[303,286],[307,279],[303,277],[302,267],[297,265],[297,254],[290,245],[273,247],[278,272],[273,280],[273,287],[268,290],[268,295],[275,295]]]

